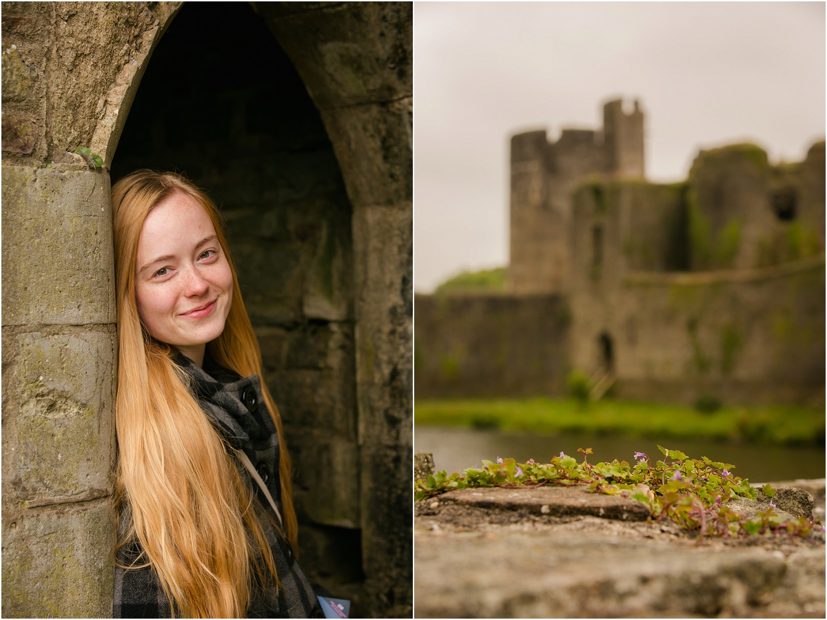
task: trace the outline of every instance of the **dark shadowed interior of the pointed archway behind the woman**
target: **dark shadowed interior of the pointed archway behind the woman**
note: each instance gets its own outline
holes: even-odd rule
[[[331,436],[337,454],[357,454],[352,208],[318,110],[248,3],[187,2],[174,17],[112,182],[138,168],[183,173],[221,207],[294,460],[302,565],[333,592],[359,587],[358,487],[319,465]],[[356,471],[347,478],[358,484]]]

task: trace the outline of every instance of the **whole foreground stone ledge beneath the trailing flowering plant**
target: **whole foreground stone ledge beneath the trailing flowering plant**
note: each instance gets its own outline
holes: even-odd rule
[[[818,482],[791,491],[823,506]],[[461,489],[417,502],[416,615],[825,617],[823,533],[698,540],[647,514],[583,486]]]

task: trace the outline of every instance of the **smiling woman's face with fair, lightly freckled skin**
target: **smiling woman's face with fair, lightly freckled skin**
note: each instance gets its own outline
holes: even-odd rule
[[[151,336],[201,365],[204,346],[224,331],[232,272],[213,222],[194,198],[174,193],[146,216],[135,282]]]

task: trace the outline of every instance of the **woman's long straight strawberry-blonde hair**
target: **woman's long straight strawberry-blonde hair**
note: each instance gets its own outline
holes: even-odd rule
[[[115,231],[118,370],[117,517],[130,526],[117,547],[137,541],[143,562],[160,577],[170,607],[184,617],[246,615],[252,580],[278,577],[254,508],[258,505],[225,444],[189,392],[188,377],[170,346],[141,327],[135,271],[138,241],[148,213],[174,193],[194,198],[213,222],[232,271],[232,305],[221,336],[208,343],[219,365],[242,377],[261,376],[261,351],[247,316],[218,209],[183,177],[138,170],[112,187]],[[297,549],[289,455],[270,391],[261,391],[279,435],[284,533]],[[123,529],[123,528],[121,528]],[[248,535],[249,532],[249,535]]]

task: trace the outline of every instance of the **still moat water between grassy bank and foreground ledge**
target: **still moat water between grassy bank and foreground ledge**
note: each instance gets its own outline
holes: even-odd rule
[[[657,460],[662,457],[657,445],[680,450],[691,458],[708,456],[735,465],[733,473],[750,482],[825,477],[825,448],[819,446],[767,446],[715,441],[657,440],[642,437],[595,436],[579,434],[540,435],[461,427],[414,427],[414,450],[430,452],[438,470],[449,474],[481,466],[481,460],[511,457],[518,463],[528,459],[547,462],[565,452],[581,460],[577,448],[591,448],[589,462],[614,459],[633,462],[636,451]]]

